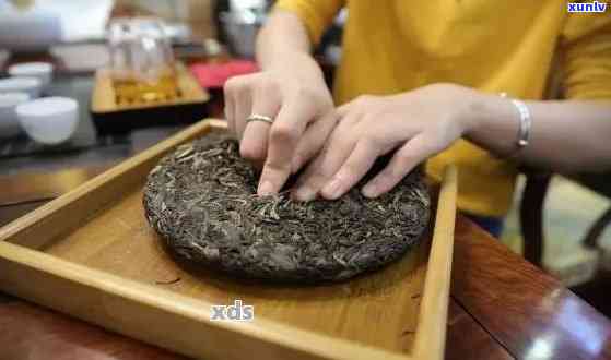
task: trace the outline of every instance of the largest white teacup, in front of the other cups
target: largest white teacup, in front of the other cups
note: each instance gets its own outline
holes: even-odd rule
[[[68,97],[43,97],[19,105],[15,111],[27,135],[48,145],[68,141],[79,123],[79,103]]]

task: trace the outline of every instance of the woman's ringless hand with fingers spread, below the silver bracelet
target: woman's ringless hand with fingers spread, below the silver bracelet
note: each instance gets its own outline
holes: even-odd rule
[[[478,93],[435,84],[393,96],[361,96],[338,108],[338,125],[298,179],[294,196],[337,199],[365,176],[377,157],[396,149],[363,189],[367,197],[391,190],[419,163],[449,147],[472,121]]]

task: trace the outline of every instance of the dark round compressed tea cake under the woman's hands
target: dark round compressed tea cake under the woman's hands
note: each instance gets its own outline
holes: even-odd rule
[[[146,219],[166,249],[190,265],[275,281],[342,280],[414,247],[431,200],[420,171],[366,199],[360,183],[337,201],[307,203],[289,191],[257,196],[257,170],[238,144],[211,134],[179,146],[151,171]]]

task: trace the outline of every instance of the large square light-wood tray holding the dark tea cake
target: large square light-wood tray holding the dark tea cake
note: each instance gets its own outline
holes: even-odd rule
[[[162,250],[142,187],[163,154],[222,129],[197,123],[0,229],[0,289],[201,359],[442,359],[455,168],[432,242],[383,271],[316,287],[195,276]],[[255,307],[252,322],[211,321],[211,305],[235,299]]]

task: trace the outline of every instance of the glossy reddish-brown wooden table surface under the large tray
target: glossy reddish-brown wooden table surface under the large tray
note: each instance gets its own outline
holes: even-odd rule
[[[0,226],[104,168],[0,178]],[[611,359],[611,322],[458,216],[447,359]],[[0,359],[183,359],[0,293]]]

